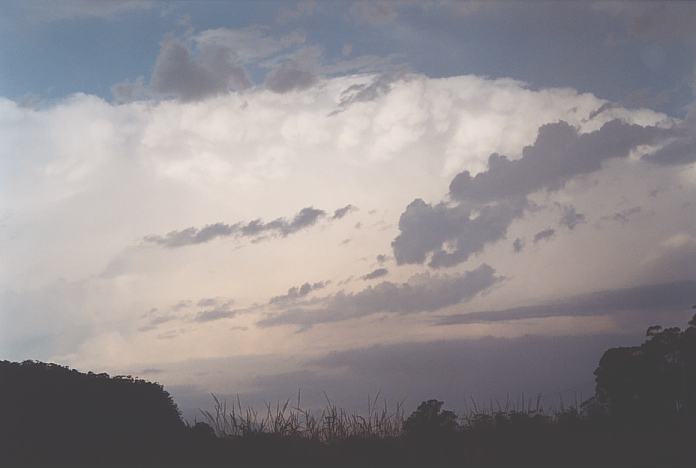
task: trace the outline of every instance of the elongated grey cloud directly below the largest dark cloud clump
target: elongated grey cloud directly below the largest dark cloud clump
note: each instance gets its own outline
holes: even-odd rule
[[[380,312],[431,312],[470,300],[501,280],[493,268],[484,264],[458,275],[417,275],[401,284],[384,281],[357,293],[340,292],[330,296],[321,308],[288,309],[261,320],[258,325],[297,325],[308,328],[320,323],[350,320]]]

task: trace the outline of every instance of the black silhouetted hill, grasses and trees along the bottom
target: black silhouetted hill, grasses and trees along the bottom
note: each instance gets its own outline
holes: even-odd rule
[[[2,467],[695,467],[696,317],[604,353],[595,395],[545,413],[503,404],[458,417],[421,403],[320,414],[216,401],[184,423],[162,386],[54,364],[0,362]]]

